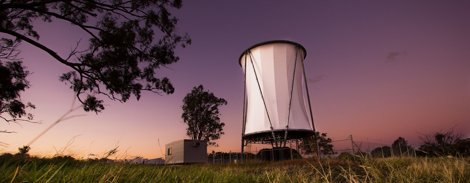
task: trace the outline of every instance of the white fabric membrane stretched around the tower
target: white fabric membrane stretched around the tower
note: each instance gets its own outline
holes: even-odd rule
[[[256,76],[258,76],[259,87],[263,93],[273,130],[286,129],[292,75],[294,74],[294,64],[297,62],[288,129],[312,130],[305,109],[302,88],[303,77],[300,59],[304,56],[303,50],[296,50],[295,44],[270,43],[252,48],[250,51],[251,58],[249,54],[243,55],[241,58],[242,68],[245,69],[246,56],[248,95],[244,134],[271,130],[251,60],[255,67]],[[295,59],[296,51],[297,61]]]

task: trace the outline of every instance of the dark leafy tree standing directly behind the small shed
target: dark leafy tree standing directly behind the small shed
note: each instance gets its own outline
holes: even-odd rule
[[[207,140],[210,146],[218,146],[213,140],[220,139],[224,134],[220,123],[219,106],[227,105],[223,98],[217,98],[209,90],[199,85],[191,90],[183,99],[183,123],[188,124],[186,135],[191,139]]]

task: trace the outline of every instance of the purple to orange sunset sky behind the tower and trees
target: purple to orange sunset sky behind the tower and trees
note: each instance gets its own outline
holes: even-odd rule
[[[315,128],[329,137],[347,135],[419,145],[419,133],[454,132],[470,138],[470,1],[282,1],[185,0],[179,10],[180,33],[193,44],[176,50],[180,61],[156,70],[175,87],[172,95],[143,92],[140,101],[102,98],[98,115],[81,109],[32,143],[31,154],[118,154],[162,157],[164,145],[188,139],[181,123],[183,97],[202,84],[227,100],[220,107],[225,135],[215,151],[240,151],[243,109],[242,52],[269,40],[290,40],[306,49],[305,73]],[[33,22],[39,43],[67,56],[88,35],[60,20]],[[4,37],[4,35],[2,35]],[[23,43],[24,66],[32,87],[22,100],[43,124],[0,123],[2,152],[32,139],[71,109],[74,93],[58,80],[71,68]],[[76,102],[78,105],[78,102]],[[419,132],[419,133],[418,133]],[[78,136],[79,135],[79,136]],[[73,143],[68,142],[75,137]],[[159,143],[158,143],[159,140]]]

